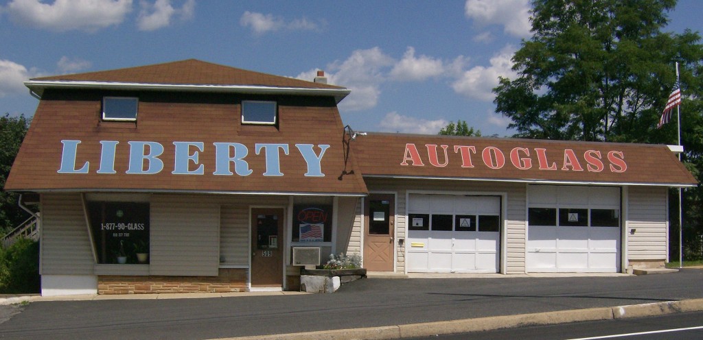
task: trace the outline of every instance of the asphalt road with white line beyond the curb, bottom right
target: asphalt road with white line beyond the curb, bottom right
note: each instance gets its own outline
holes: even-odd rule
[[[594,337],[628,340],[703,339],[703,312],[498,329],[489,332],[427,336],[408,340],[586,340]]]

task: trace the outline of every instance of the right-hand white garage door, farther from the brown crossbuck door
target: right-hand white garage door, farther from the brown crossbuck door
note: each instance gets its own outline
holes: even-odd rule
[[[529,185],[527,271],[620,271],[620,189]]]

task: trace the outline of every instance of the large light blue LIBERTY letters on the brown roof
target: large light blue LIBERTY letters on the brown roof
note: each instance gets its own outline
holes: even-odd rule
[[[61,140],[63,151],[59,174],[88,174],[91,171],[97,174],[116,174],[115,153],[120,148],[117,140],[101,140],[100,164],[97,169],[86,160],[77,159],[77,152],[81,140]],[[149,141],[129,141],[129,163],[126,174],[149,175],[159,174],[164,171],[164,162],[160,156],[165,147],[161,143]],[[204,175],[206,172],[219,176],[249,176],[252,174],[247,159],[250,152],[266,160],[266,170],[263,176],[284,176],[280,169],[280,157],[297,156],[307,164],[307,177],[324,177],[322,171],[322,158],[330,147],[328,144],[295,144],[287,143],[256,143],[253,150],[242,143],[212,143],[208,145],[208,152],[214,150],[215,164],[203,164],[200,155],[206,152],[203,142],[173,142],[174,175]],[[232,171],[234,170],[234,172]]]

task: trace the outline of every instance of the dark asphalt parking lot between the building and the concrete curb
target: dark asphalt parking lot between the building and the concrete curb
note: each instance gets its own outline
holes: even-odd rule
[[[698,298],[703,270],[696,269],[618,277],[370,278],[335,294],[0,306],[20,312],[0,324],[0,337],[216,339]]]

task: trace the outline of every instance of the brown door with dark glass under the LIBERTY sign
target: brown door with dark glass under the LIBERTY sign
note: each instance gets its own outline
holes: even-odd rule
[[[283,287],[281,208],[252,208],[252,287]]]

